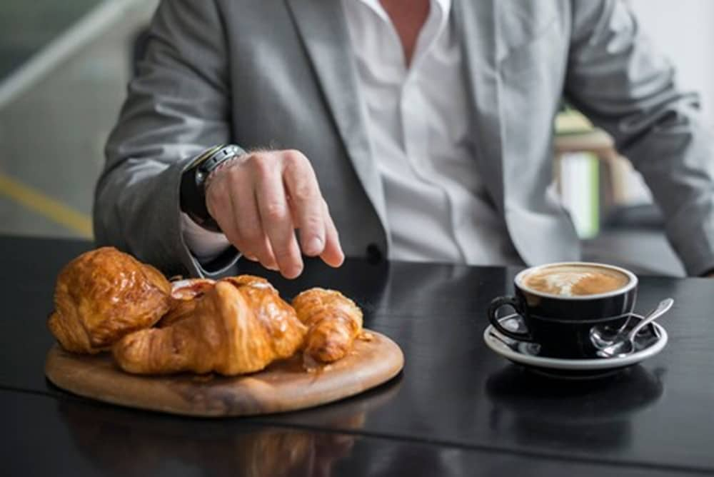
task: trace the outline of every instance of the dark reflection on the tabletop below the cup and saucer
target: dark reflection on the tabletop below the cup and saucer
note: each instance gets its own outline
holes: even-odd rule
[[[633,366],[608,378],[562,381],[507,366],[486,381],[491,426],[514,431],[518,443],[557,443],[565,452],[627,447],[633,416],[663,394],[660,371]]]

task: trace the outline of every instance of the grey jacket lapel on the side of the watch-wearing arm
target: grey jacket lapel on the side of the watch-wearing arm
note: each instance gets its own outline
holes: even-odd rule
[[[363,100],[342,3],[338,0],[286,0],[286,3],[347,156],[387,230],[384,191],[361,110]]]

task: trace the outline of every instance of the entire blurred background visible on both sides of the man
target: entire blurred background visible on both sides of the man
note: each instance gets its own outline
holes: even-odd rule
[[[0,234],[91,239],[104,141],[158,0],[0,3]],[[699,91],[714,124],[714,2],[629,0],[640,27]],[[607,134],[577,111],[556,121],[555,186],[587,256],[682,275],[649,192]]]

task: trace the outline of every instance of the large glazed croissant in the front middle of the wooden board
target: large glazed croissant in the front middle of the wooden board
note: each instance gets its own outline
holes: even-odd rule
[[[136,331],[114,345],[130,373],[178,371],[226,376],[260,371],[302,345],[306,327],[270,283],[243,276],[218,281],[193,312],[164,328]]]

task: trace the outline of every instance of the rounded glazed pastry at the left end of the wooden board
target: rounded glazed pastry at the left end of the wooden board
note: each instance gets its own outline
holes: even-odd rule
[[[47,322],[67,351],[98,353],[154,325],[169,310],[171,283],[113,247],[82,253],[59,273]]]

